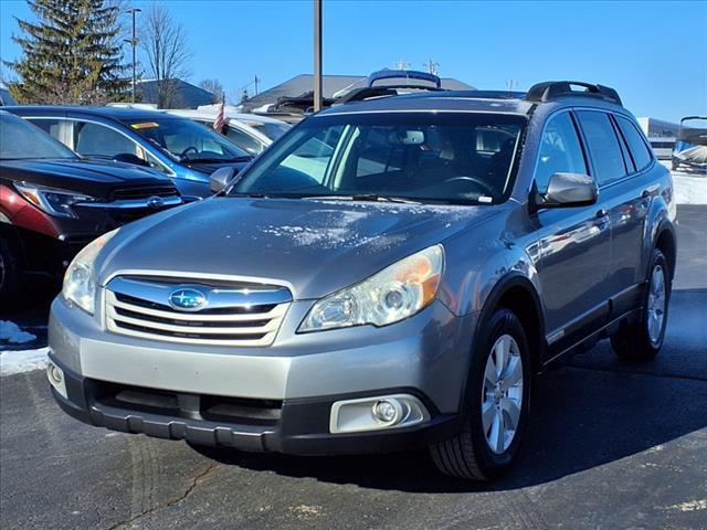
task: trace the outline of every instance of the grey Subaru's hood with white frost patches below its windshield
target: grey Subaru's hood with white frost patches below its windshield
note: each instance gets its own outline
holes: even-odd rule
[[[494,214],[436,206],[213,198],[133,223],[96,262],[116,274],[232,275],[319,298]]]

